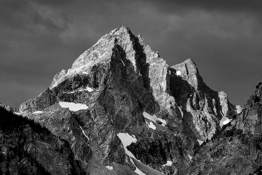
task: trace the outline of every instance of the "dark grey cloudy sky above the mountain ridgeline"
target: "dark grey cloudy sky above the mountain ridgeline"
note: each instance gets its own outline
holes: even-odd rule
[[[262,81],[262,1],[0,0],[0,102],[18,108],[125,25],[169,66],[192,58],[206,84],[243,106]]]

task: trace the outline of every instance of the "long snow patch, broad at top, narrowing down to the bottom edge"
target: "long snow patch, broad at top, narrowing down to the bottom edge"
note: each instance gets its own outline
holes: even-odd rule
[[[121,140],[125,153],[129,156],[130,161],[132,162],[132,164],[134,164],[134,166],[136,167],[135,171],[137,174],[139,175],[146,175],[145,173],[143,173],[140,169],[137,168],[137,166],[135,165],[133,159],[137,160],[134,155],[127,149],[127,146],[130,145],[131,143],[136,143],[137,139],[136,137],[132,134],[129,135],[127,132],[125,133],[121,133],[119,132],[118,134],[116,134],[118,136],[118,138]],[[140,160],[137,160],[140,162]]]

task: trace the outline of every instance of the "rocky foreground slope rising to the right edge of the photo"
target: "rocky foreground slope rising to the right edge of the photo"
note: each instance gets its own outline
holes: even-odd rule
[[[242,112],[193,157],[184,174],[252,174],[262,167],[262,85]]]

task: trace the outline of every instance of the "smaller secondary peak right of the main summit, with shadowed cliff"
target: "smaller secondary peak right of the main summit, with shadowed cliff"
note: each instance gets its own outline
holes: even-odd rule
[[[195,136],[210,139],[221,128],[223,117],[231,119],[241,111],[226,93],[211,90],[199,75],[196,64],[188,59],[170,68],[170,90]]]

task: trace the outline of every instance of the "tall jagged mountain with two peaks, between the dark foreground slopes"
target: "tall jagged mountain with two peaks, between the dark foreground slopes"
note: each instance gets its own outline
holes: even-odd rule
[[[182,174],[241,110],[203,82],[193,60],[170,67],[121,26],[19,114],[67,141],[86,174],[149,175]]]

